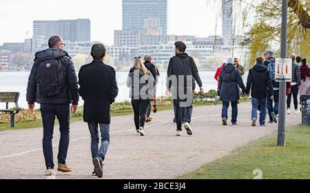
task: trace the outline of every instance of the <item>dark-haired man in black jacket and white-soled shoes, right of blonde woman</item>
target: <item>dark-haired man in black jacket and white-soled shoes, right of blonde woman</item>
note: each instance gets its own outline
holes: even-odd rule
[[[192,116],[193,103],[193,77],[197,81],[200,92],[203,90],[196,63],[192,57],[185,53],[186,45],[182,41],[174,44],[176,56],[169,61],[167,70],[167,93],[173,92],[174,104],[176,105],[176,135],[182,132],[182,108],[187,108],[187,112]],[[189,123],[185,123],[187,134],[192,135],[192,128]]]

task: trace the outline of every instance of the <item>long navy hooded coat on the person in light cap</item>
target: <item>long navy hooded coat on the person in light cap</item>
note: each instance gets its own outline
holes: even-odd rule
[[[239,87],[242,89],[242,92],[245,93],[245,84],[242,81],[241,74],[232,63],[225,65],[220,72],[219,82],[218,95],[221,101],[238,101],[240,99]]]

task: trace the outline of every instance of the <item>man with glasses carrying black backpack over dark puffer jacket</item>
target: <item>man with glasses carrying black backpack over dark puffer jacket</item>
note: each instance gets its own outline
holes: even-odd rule
[[[47,167],[45,174],[50,176],[55,175],[52,152],[55,116],[59,120],[61,132],[57,170],[72,171],[66,165],[65,159],[70,141],[70,103],[71,112],[74,114],[79,102],[79,86],[71,58],[63,51],[65,44],[62,39],[51,37],[48,45],[50,48],[35,55],[26,98],[31,112],[34,111],[34,102],[41,103],[43,153]]]

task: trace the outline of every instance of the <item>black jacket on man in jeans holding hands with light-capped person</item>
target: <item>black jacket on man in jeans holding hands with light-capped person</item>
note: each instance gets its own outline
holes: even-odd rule
[[[270,73],[265,65],[256,64],[249,70],[247,77],[246,93],[251,89],[251,96],[257,99],[265,99],[273,95],[272,81]]]

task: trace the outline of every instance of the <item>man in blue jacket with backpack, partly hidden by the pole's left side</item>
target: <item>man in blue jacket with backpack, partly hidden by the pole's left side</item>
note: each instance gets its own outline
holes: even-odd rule
[[[276,59],[273,58],[273,50],[267,50],[264,53],[265,62],[264,65],[267,67],[270,72],[270,77],[272,78],[273,85],[273,99],[267,100],[268,105],[268,114],[269,114],[269,122],[268,123],[278,123],[277,114],[279,109],[279,90],[280,84],[276,82]],[[274,106],[273,106],[274,101]]]

